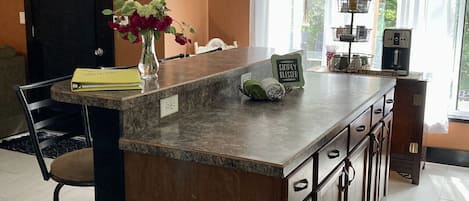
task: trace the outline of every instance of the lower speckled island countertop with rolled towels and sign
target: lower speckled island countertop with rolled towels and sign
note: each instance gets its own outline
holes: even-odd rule
[[[120,148],[286,177],[395,85],[395,79],[305,73],[306,85],[279,102],[246,97],[163,119],[124,135]]]

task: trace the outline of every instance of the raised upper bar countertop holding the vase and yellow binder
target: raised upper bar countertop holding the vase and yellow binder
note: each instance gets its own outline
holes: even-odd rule
[[[196,88],[203,82],[214,82],[224,79],[230,72],[253,66],[257,63],[270,61],[273,49],[250,47],[235,48],[194,57],[174,60],[160,65],[158,81],[144,83],[149,86],[144,90],[129,91],[95,91],[71,92],[70,81],[63,81],[51,88],[51,96],[60,102],[85,104],[108,109],[126,110],[144,102],[150,94],[158,93],[170,88]],[[210,79],[209,79],[210,78]]]

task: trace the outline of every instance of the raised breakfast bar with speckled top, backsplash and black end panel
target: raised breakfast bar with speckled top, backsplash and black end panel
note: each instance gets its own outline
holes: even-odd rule
[[[125,200],[122,136],[140,135],[160,123],[160,99],[178,95],[179,111],[166,118],[210,108],[224,98],[239,98],[244,73],[253,79],[272,76],[268,48],[236,48],[197,55],[160,65],[158,81],[144,82],[143,90],[71,92],[70,82],[51,88],[54,100],[87,105],[93,137],[96,200]]]

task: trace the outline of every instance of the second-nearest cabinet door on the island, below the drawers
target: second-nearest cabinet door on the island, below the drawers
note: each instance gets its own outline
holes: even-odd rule
[[[366,137],[347,159],[347,201],[365,201],[368,192],[370,138]]]

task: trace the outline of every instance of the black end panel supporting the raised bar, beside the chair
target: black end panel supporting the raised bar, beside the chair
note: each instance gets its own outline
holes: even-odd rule
[[[120,112],[88,107],[93,137],[96,201],[124,201],[124,161],[119,149]]]

